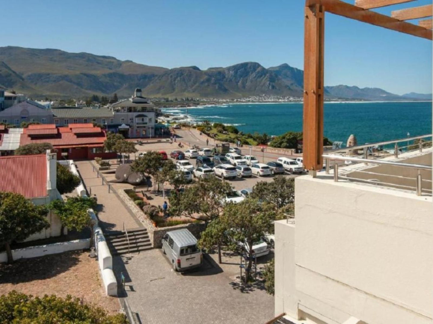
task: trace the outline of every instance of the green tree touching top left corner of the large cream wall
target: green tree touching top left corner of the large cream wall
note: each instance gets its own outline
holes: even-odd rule
[[[270,202],[276,209],[293,204],[295,198],[294,178],[275,176],[273,181],[260,181],[254,186],[252,198]]]

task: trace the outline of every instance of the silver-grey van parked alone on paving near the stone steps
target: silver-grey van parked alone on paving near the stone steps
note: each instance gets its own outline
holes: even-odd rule
[[[168,231],[162,237],[162,253],[171,262],[174,271],[185,271],[201,266],[203,253],[197,239],[186,228]]]

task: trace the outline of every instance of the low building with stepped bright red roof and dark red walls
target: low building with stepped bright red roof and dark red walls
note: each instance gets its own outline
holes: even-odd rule
[[[104,152],[103,143],[107,135],[93,124],[71,124],[67,127],[55,125],[29,125],[21,134],[19,145],[51,143],[57,150],[57,159],[93,160],[95,157],[115,158],[116,153]]]

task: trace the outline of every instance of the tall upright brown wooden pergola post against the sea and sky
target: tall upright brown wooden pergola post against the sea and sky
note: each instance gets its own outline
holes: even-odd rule
[[[323,166],[323,50],[324,9],[305,7],[303,157],[307,170]]]

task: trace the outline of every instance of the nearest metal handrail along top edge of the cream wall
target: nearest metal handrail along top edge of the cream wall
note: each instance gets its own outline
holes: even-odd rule
[[[416,192],[417,192],[417,196],[421,196],[422,194],[422,177],[421,177],[421,170],[432,170],[432,166],[430,165],[425,165],[425,164],[410,164],[410,163],[403,163],[403,162],[395,162],[395,161],[384,161],[384,160],[368,160],[365,158],[360,158],[360,157],[344,157],[341,155],[337,155],[337,154],[323,154],[322,157],[326,160],[326,174],[329,174],[329,161],[330,160],[334,160],[336,161],[351,161],[351,162],[358,162],[358,163],[365,163],[365,164],[378,164],[378,165],[389,165],[389,166],[393,166],[393,167],[405,167],[405,168],[410,168],[410,169],[416,169],[418,170],[418,174],[417,177],[415,178],[416,180],[416,187],[410,187],[410,188],[415,188]],[[339,166],[338,164],[334,164],[334,181],[338,182],[338,169]],[[353,170],[353,172],[360,172],[359,170]],[[362,172],[362,171],[361,171]],[[343,176],[346,179],[352,179],[352,180],[358,180],[358,181],[364,181],[364,182],[369,182],[369,180],[365,181],[365,180],[360,180],[360,179],[356,179],[356,178],[350,178],[348,176]],[[378,183],[378,182],[375,182]],[[380,182],[379,182],[380,183]],[[393,184],[393,183],[384,183],[387,185],[391,185],[391,186],[400,186],[400,187],[409,187],[409,186],[401,186],[401,185],[397,185],[397,184]]]

